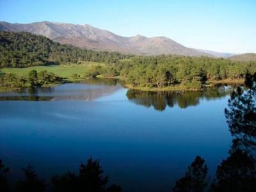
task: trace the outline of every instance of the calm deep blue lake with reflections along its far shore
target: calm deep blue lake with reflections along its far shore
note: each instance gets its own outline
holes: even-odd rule
[[[229,93],[139,92],[100,79],[0,93],[0,159],[13,182],[28,163],[49,182],[93,157],[123,191],[171,191],[195,156],[210,175],[228,156]]]

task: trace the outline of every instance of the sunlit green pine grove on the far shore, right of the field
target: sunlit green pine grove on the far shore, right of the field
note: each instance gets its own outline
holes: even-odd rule
[[[134,56],[107,68],[115,70],[115,76],[121,76],[132,86],[160,89],[174,84],[184,84],[188,89],[199,90],[205,81],[241,80],[246,71],[256,71],[256,62],[172,55]]]

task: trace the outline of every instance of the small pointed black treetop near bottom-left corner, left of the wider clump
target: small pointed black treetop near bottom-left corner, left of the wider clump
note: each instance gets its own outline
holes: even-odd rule
[[[23,168],[22,170],[24,172],[25,179],[17,182],[15,186],[15,191],[20,191],[20,192],[45,191],[46,185],[45,185],[44,179],[38,178],[31,164],[28,164],[27,168]]]

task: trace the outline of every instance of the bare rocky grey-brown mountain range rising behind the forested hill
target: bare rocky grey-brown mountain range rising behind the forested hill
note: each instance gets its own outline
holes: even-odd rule
[[[119,36],[110,31],[93,28],[85,24],[67,24],[59,22],[33,22],[31,24],[11,24],[0,22],[0,31],[27,31],[43,35],[60,44],[97,51],[117,51],[140,55],[177,54],[184,56],[212,56],[207,52],[191,49],[164,36],[147,38],[136,35]]]

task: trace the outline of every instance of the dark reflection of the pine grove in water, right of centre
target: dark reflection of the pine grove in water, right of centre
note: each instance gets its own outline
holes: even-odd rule
[[[128,90],[126,95],[132,102],[150,108],[163,111],[166,106],[172,108],[178,105],[179,108],[188,108],[189,106],[196,106],[200,99],[218,99],[225,97],[230,92],[225,87],[209,88],[202,92],[141,92],[138,90]]]

